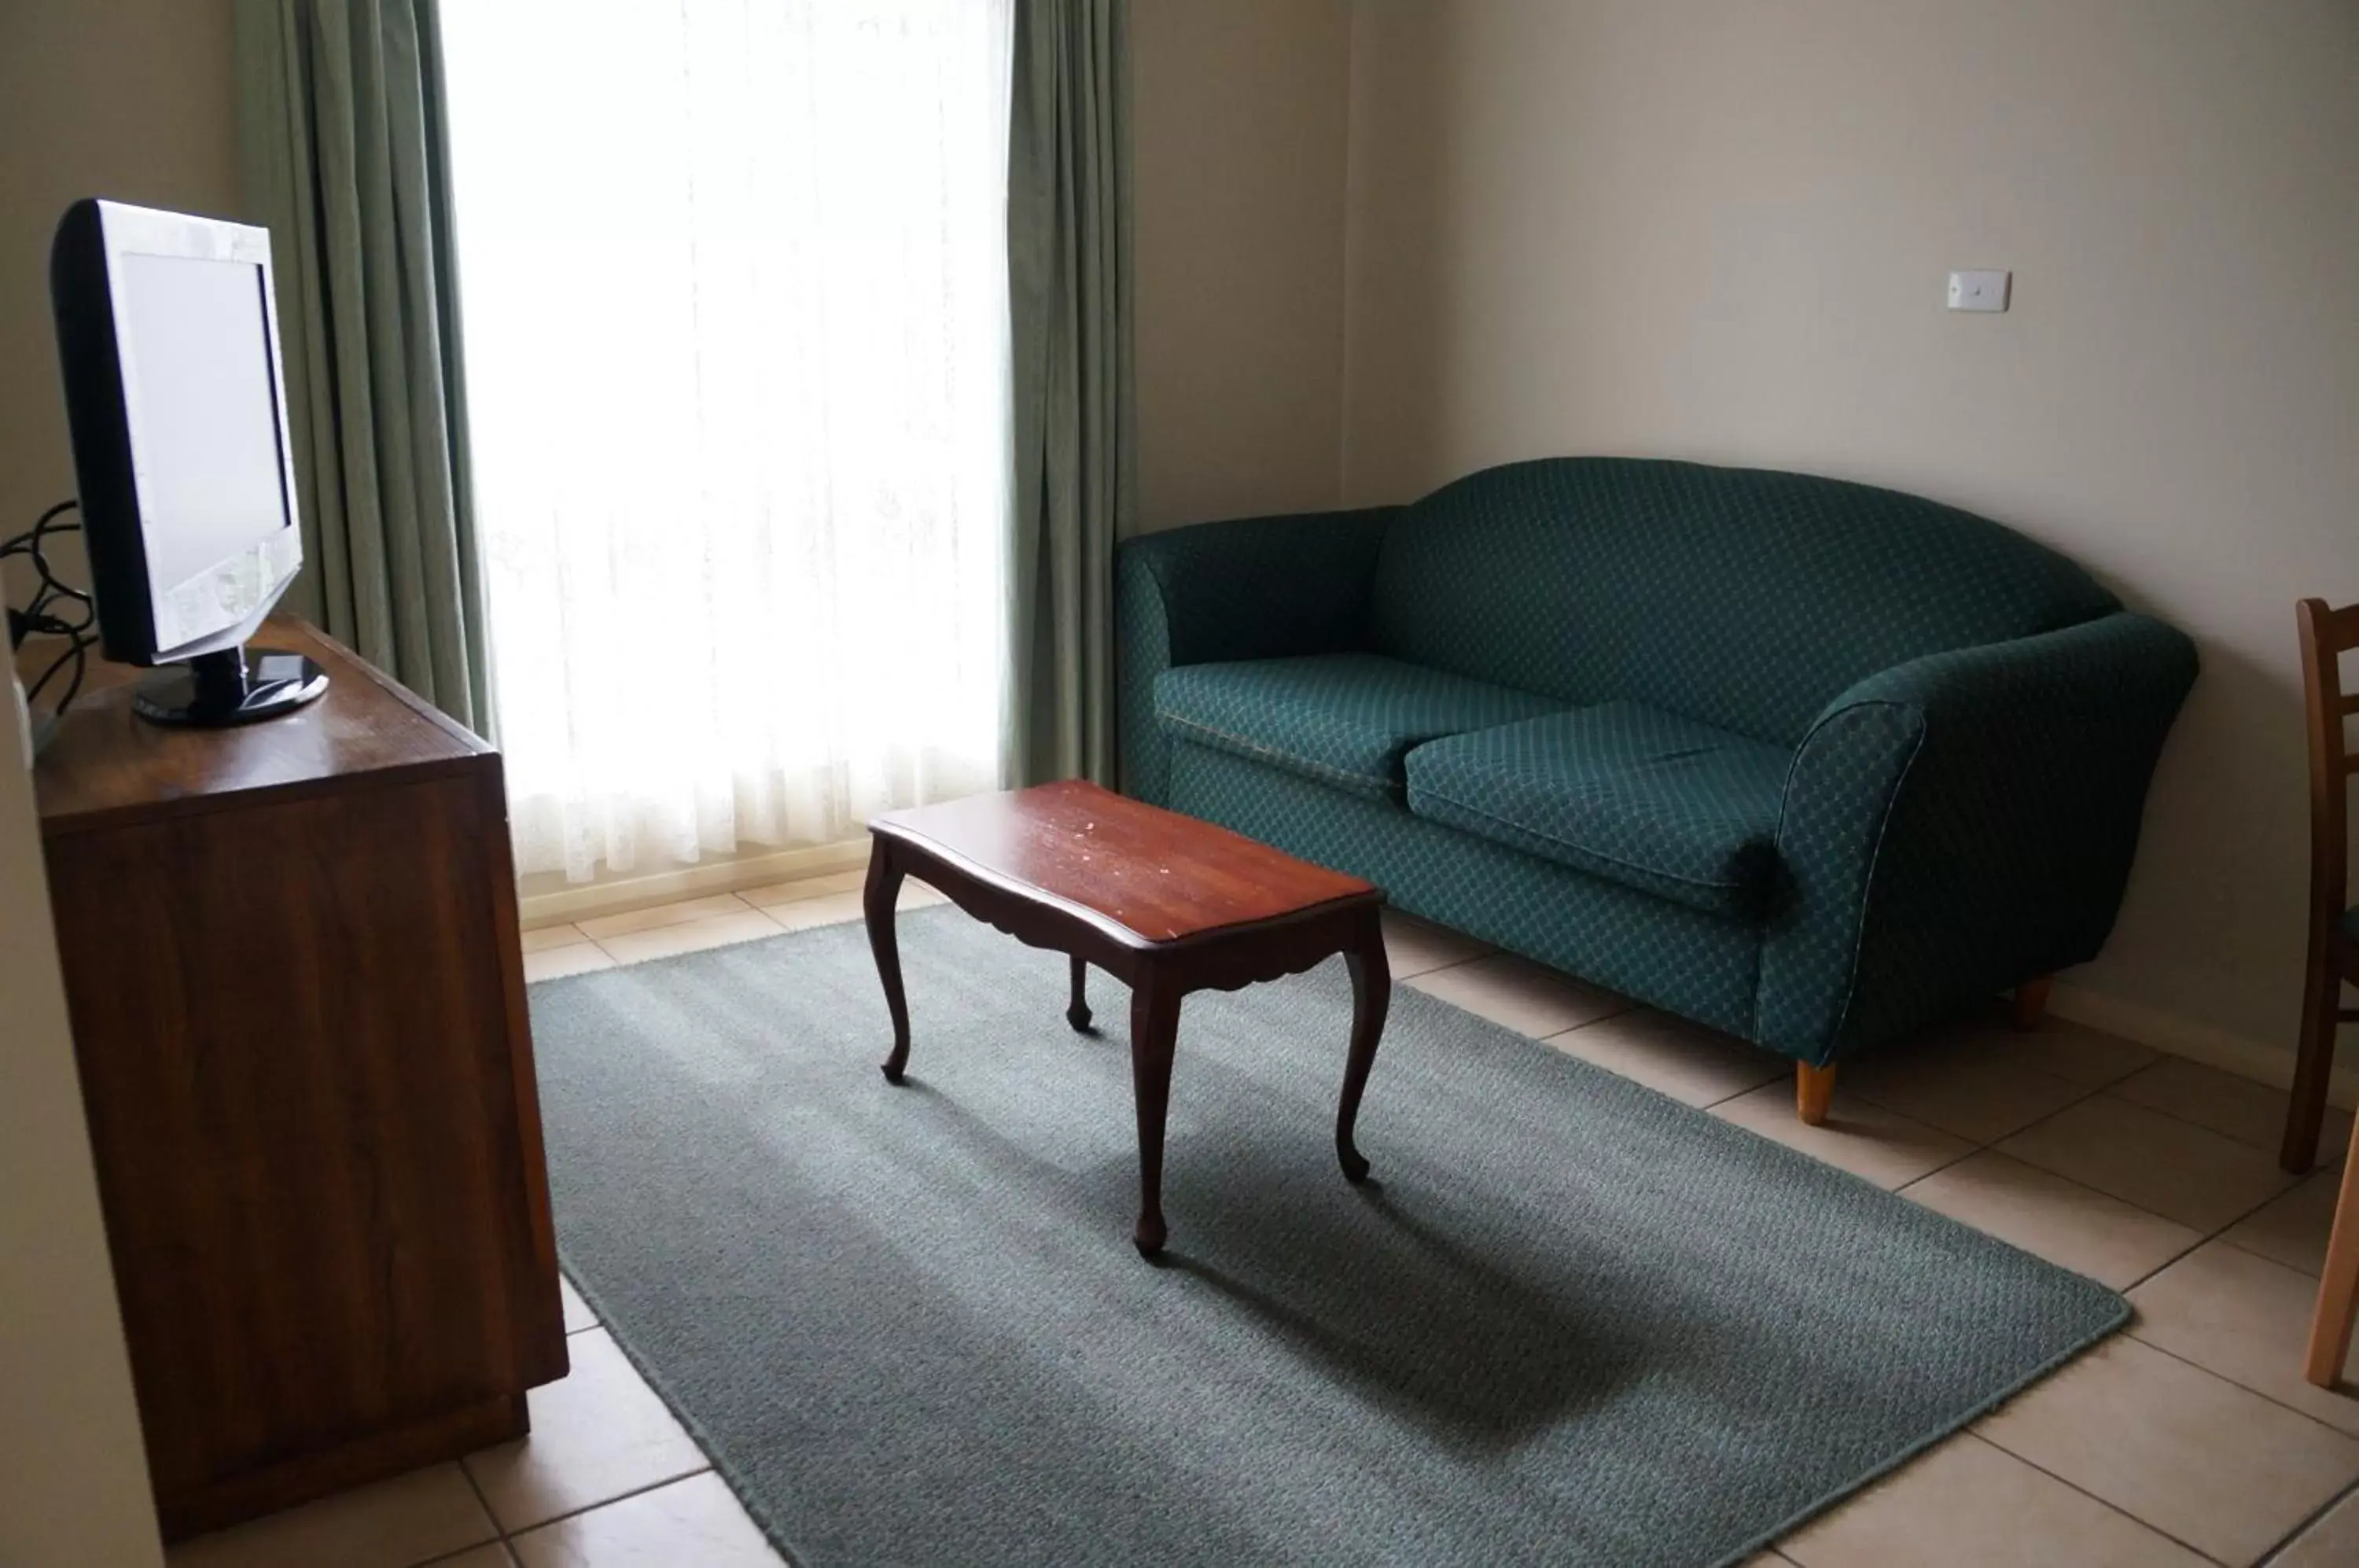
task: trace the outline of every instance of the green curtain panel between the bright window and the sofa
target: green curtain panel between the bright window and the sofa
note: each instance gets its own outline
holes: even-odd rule
[[[1007,766],[1113,783],[1113,540],[1130,528],[1130,19],[1017,0]]]

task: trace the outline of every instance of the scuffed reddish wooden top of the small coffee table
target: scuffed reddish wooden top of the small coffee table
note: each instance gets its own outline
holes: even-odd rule
[[[1139,943],[1385,896],[1373,882],[1080,778],[887,811],[868,830],[1007,891],[1097,915]]]

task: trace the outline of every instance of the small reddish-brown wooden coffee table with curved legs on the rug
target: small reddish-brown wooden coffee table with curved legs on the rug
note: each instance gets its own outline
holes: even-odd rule
[[[1130,1082],[1139,1106],[1139,1224],[1163,1250],[1163,1113],[1170,1103],[1180,997],[1300,974],[1335,953],[1352,969],[1352,1052],[1335,1106],[1335,1158],[1347,1181],[1368,1162],[1352,1144],[1359,1096],[1392,1004],[1385,894],[1227,828],[1066,780],[892,811],[868,823],[868,946],[892,1009],[885,1078],[908,1066],[908,1000],[894,901],[915,875],[951,903],[1033,948],[1073,960],[1066,1023],[1090,1026],[1087,967],[1130,986]]]

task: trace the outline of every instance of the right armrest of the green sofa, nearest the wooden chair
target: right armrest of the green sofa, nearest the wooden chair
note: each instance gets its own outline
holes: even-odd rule
[[[1755,1037],[1826,1063],[2095,957],[2194,677],[2123,611],[1835,698],[1786,776]]]

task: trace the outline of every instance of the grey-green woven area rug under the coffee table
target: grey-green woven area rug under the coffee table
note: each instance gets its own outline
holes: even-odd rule
[[[566,1271],[771,1537],[835,1563],[1734,1563],[2118,1294],[1342,964],[1187,1000],[1165,1266],[1128,993],[901,917],[533,988]]]

